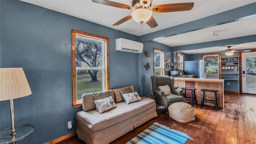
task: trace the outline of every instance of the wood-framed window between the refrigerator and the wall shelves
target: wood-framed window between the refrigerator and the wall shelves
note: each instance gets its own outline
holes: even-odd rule
[[[205,54],[202,55],[204,60],[204,72],[206,78],[219,79],[219,54]]]

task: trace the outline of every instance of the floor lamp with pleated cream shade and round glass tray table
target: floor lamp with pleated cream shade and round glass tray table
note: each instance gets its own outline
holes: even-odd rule
[[[13,99],[31,94],[28,80],[22,68],[0,68],[0,101],[10,100],[11,128],[0,132],[0,144],[15,144],[34,131],[32,125],[14,125]]]

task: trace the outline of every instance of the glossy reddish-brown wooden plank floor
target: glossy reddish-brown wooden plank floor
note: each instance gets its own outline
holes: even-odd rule
[[[157,106],[158,116],[118,138],[111,144],[124,144],[134,136],[158,122],[188,134],[194,140],[186,144],[256,144],[256,95],[224,94],[225,108],[215,111],[213,107],[194,107],[196,120],[189,123],[176,122],[165,114],[163,106]],[[73,136],[57,144],[85,144]]]

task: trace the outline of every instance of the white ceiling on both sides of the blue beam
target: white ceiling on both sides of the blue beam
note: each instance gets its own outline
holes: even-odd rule
[[[141,25],[130,19],[119,26],[112,26],[118,20],[131,14],[131,10],[122,8],[115,8],[103,4],[94,3],[91,0],[22,0],[31,4],[42,6],[50,10],[55,10],[70,16],[88,20],[103,26],[114,28],[129,34],[140,36]],[[132,0],[111,0],[114,2],[126,4],[131,6]],[[256,2],[256,0],[153,0],[152,6],[170,3],[194,2],[194,7],[190,11],[182,12],[166,12],[153,13],[152,16],[158,23],[155,28],[150,28],[147,24],[143,24],[143,34],[156,32],[172,26],[177,26],[186,22],[191,22],[200,18],[218,14],[227,10],[238,8]],[[218,32],[218,37],[208,37],[211,32]],[[228,38],[236,38],[240,36],[249,36],[256,34],[256,16],[236,22],[230,22],[219,26],[204,28],[184,34],[169,36],[154,40],[168,46],[182,46],[187,44],[195,44],[201,42],[209,42],[215,40],[223,40]],[[246,46],[246,47],[244,47]],[[236,46],[239,48],[239,46]],[[244,44],[242,49],[256,48],[256,43]],[[220,50],[220,47],[208,48],[209,50]],[[235,49],[235,46],[232,47]],[[200,50],[200,53],[204,53]],[[225,50],[225,49],[224,49]],[[196,50],[183,51],[187,54],[198,53]]]

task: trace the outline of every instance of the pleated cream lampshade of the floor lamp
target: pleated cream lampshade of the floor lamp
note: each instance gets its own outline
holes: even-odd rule
[[[0,68],[0,101],[21,98],[31,93],[22,68]]]

